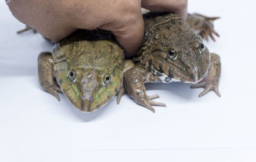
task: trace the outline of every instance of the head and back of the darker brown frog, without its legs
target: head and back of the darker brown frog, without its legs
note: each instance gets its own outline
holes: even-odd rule
[[[179,17],[148,27],[136,58],[156,73],[162,82],[199,82],[206,75],[210,53],[200,36]]]

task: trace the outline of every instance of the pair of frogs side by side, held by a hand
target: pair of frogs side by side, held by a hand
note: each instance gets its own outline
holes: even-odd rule
[[[189,14],[185,21],[173,13],[147,13],[145,39],[133,60],[125,60],[109,31],[79,30],[38,56],[40,84],[58,100],[62,92],[82,112],[103,107],[117,93],[119,103],[125,91],[155,112],[152,106],[165,104],[153,101],[158,95],[147,96],[148,82],[191,83],[205,88],[200,96],[212,90],[220,96],[220,57],[200,37],[218,36],[212,24],[217,18]]]

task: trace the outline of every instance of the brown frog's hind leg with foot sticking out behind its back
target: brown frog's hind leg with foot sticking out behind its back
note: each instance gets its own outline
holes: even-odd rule
[[[188,18],[186,22],[188,22],[191,29],[193,29],[197,34],[202,36],[205,40],[208,41],[208,36],[211,37],[213,41],[215,41],[214,36],[220,36],[215,30],[213,21],[217,20],[220,17],[206,17],[204,15],[200,15],[198,13],[188,14]]]

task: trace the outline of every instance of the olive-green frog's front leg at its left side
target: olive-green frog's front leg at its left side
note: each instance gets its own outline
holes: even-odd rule
[[[41,52],[38,55],[38,77],[40,85],[44,90],[55,96],[58,101],[60,101],[58,92],[62,91],[56,82],[51,52]]]

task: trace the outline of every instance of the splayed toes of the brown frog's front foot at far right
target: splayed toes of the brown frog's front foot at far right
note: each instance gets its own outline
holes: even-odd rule
[[[202,91],[199,94],[199,97],[204,96],[205,94],[207,94],[207,92],[210,92],[210,91],[216,92],[216,94],[219,97],[221,97],[220,91],[218,89],[218,84],[216,84],[216,83],[212,84],[212,83],[205,82],[204,80],[202,80],[200,83],[194,84],[194,85],[191,86],[191,88],[198,88],[198,87],[203,87],[204,88],[204,91]]]

